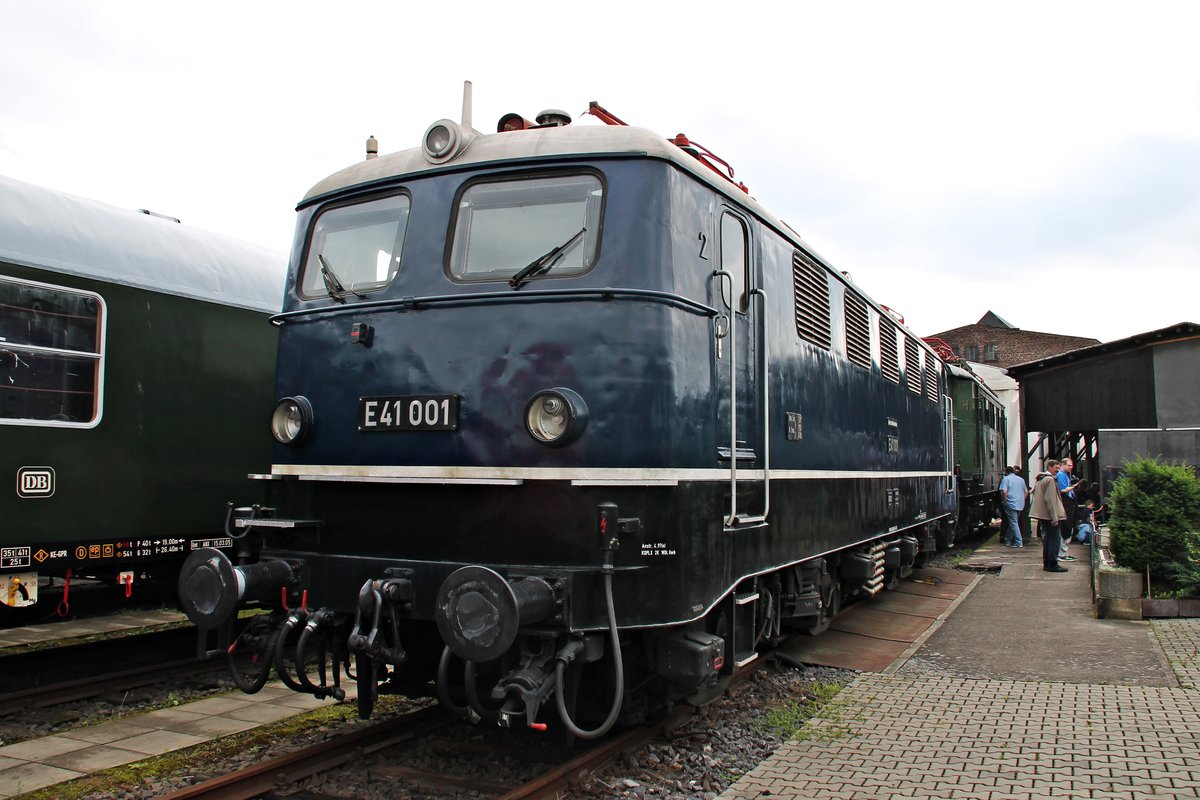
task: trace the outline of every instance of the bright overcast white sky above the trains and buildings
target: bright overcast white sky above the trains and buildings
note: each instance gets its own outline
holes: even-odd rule
[[[485,132],[596,100],[688,133],[920,335],[1200,321],[1200,4],[767,8],[0,0],[0,174],[283,252],[470,79]]]

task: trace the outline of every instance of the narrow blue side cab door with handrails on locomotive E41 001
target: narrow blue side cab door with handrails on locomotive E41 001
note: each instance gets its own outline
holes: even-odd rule
[[[719,306],[726,314],[724,342],[716,341],[718,391],[727,397],[718,404],[718,428],[726,434],[718,455],[730,465],[730,507],[726,527],[762,523],[769,505],[768,437],[764,428],[766,349],[762,343],[766,294],[754,269],[754,247],[745,221],[725,210],[720,223]],[[718,331],[719,335],[721,331]],[[724,353],[721,353],[724,350]]]

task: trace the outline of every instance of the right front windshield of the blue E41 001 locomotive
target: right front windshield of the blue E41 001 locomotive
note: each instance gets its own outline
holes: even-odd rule
[[[530,267],[523,277],[587,272],[598,255],[602,204],[595,175],[469,184],[458,197],[450,275],[502,281]]]

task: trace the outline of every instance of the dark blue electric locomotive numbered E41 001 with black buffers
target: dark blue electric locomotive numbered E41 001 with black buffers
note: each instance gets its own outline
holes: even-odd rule
[[[600,735],[946,539],[941,360],[710,152],[589,110],[372,140],[300,204],[270,507],[180,576],[202,626],[290,609],[259,680],[341,696],[331,651],[364,714],[436,682]]]

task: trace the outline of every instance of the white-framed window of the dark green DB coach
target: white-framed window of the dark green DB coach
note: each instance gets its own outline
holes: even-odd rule
[[[100,295],[0,278],[0,425],[98,423],[103,345]]]

